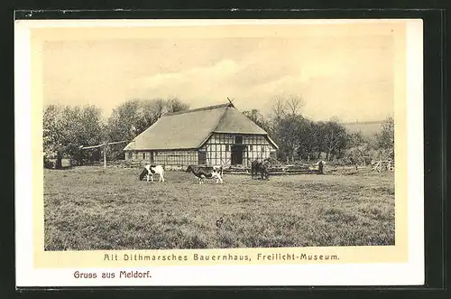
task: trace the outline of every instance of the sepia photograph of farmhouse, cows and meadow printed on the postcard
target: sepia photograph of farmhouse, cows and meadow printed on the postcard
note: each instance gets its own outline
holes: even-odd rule
[[[42,43],[45,250],[395,245],[399,24],[234,27]]]

